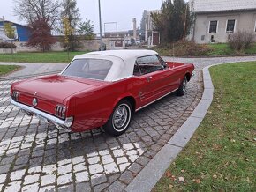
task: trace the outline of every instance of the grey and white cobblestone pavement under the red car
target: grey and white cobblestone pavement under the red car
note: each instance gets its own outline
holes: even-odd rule
[[[69,134],[39,122],[10,104],[10,85],[18,79],[0,81],[0,190],[121,191],[197,106],[201,63],[183,97],[170,94],[140,110],[120,137],[102,129]]]

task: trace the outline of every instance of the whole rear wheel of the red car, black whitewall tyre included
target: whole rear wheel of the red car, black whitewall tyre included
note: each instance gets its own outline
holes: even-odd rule
[[[103,126],[105,131],[114,137],[122,135],[132,120],[132,106],[127,100],[121,100]]]

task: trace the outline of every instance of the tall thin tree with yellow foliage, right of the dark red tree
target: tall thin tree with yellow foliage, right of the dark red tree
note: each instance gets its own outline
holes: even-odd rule
[[[67,19],[69,25],[72,27],[72,33],[69,34],[69,45],[68,48],[74,51],[76,48],[79,47],[79,41],[75,37],[75,32],[77,26],[79,24],[80,14],[79,8],[77,7],[76,0],[63,0],[62,2],[62,11],[61,11],[61,18]],[[64,23],[63,23],[64,26]]]

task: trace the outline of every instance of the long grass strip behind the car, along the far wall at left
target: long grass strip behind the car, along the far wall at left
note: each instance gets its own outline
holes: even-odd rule
[[[86,52],[46,52],[46,53],[17,53],[0,55],[0,62],[21,62],[21,63],[70,63],[74,55],[81,55]]]

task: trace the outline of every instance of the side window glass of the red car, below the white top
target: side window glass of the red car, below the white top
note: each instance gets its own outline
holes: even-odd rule
[[[133,75],[145,75],[157,70],[162,70],[162,61],[157,55],[139,57],[134,65]]]

